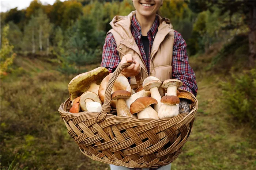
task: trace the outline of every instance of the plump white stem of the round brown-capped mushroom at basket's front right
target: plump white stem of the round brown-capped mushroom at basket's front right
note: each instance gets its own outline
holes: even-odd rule
[[[162,119],[162,118],[177,116],[179,114],[178,110],[179,110],[178,104],[173,104],[173,105],[162,104],[161,108],[158,111],[158,117]]]

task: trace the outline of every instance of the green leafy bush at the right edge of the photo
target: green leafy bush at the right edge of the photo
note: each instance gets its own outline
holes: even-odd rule
[[[256,69],[232,74],[231,80],[221,82],[221,103],[238,123],[256,128]]]

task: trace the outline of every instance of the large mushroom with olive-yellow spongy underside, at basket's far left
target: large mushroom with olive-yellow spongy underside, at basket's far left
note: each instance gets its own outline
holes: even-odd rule
[[[92,91],[98,94],[98,84],[100,84],[107,75],[109,75],[108,69],[105,67],[97,67],[90,72],[82,73],[74,77],[68,84],[70,100],[74,100],[86,91]]]

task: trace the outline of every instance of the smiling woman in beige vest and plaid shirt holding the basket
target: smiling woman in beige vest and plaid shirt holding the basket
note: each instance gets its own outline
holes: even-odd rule
[[[118,64],[134,62],[122,72],[132,86],[138,73],[143,80],[148,76],[161,81],[176,78],[183,82],[181,89],[196,96],[197,84],[188,63],[187,45],[181,34],[173,30],[169,19],[158,15],[162,4],[163,0],[133,0],[135,11],[113,18],[103,46],[101,66],[112,73]],[[128,169],[113,165],[110,168]],[[159,168],[164,169],[170,170],[170,165]]]

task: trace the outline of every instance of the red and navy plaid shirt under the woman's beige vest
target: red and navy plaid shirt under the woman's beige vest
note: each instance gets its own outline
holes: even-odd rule
[[[149,41],[149,54],[151,53],[151,47],[153,45],[153,41],[155,35],[158,31],[158,18],[156,17],[153,26],[147,32],[148,41]],[[132,18],[131,22],[131,32],[133,38],[135,39],[140,54],[142,55],[143,61],[146,63],[146,67],[148,73],[150,73],[150,59],[146,57],[146,53],[144,50],[144,46],[141,40],[142,32],[141,27],[136,20],[135,15]],[[174,44],[173,44],[173,59],[172,59],[172,78],[176,78],[183,82],[183,85],[180,89],[188,90],[193,93],[195,96],[197,94],[197,84],[196,84],[196,76],[188,63],[188,54],[187,54],[187,45],[185,40],[182,38],[181,34],[177,31],[174,31]],[[114,72],[118,64],[120,63],[120,58],[118,51],[116,50],[117,45],[114,40],[113,34],[108,34],[105,39],[105,44],[103,46],[102,53],[102,62],[101,66],[106,67],[110,73]],[[150,56],[150,55],[149,55]],[[129,80],[129,78],[128,78]],[[150,170],[154,170],[156,168],[150,168]],[[140,168],[135,168],[135,170],[141,170]]]

